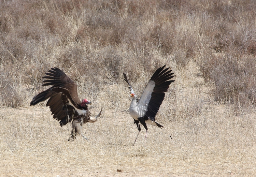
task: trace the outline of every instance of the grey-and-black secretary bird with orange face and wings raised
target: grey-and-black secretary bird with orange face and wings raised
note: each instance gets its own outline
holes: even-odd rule
[[[172,70],[166,68],[166,65],[158,68],[155,73],[152,75],[150,81],[147,83],[143,93],[138,100],[137,95],[134,93],[131,84],[128,81],[128,78],[125,73],[123,73],[124,80],[129,85],[129,89],[131,90],[130,97],[132,97],[132,101],[129,107],[129,113],[131,117],[134,119],[134,122],[137,125],[139,133],[141,131],[140,123],[146,129],[145,140],[147,139],[147,125],[153,124],[162,128],[163,126],[155,121],[156,114],[165,98],[165,92],[167,92],[170,84],[174,82],[174,80],[170,80],[174,77],[174,73],[171,73]],[[138,135],[139,135],[138,133]],[[134,141],[134,144],[137,140],[137,137]]]

